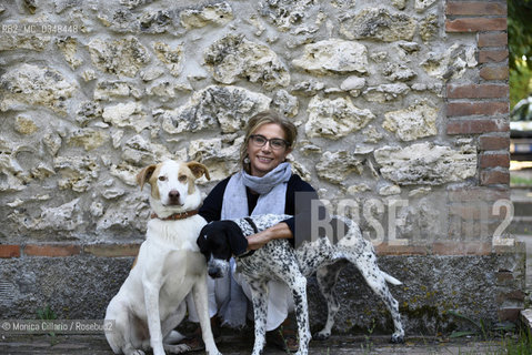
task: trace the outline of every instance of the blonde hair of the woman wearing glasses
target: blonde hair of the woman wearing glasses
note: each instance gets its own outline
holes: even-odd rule
[[[274,123],[279,124],[284,132],[284,140],[288,142],[287,149],[293,149],[295,140],[298,139],[298,129],[295,125],[288,121],[285,118],[281,116],[274,111],[264,111],[253,115],[245,125],[245,139],[240,146],[240,164],[245,172],[250,172],[250,164],[244,162],[244,159],[248,156],[248,144],[250,136],[263,124]]]

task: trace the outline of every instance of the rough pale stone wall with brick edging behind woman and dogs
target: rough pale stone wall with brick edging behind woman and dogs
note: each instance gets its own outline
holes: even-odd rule
[[[411,256],[449,272],[463,264],[431,260],[509,257],[474,275],[515,280],[483,285],[486,297],[519,288],[515,248],[493,245],[511,244],[499,241],[510,213],[505,16],[504,1],[3,2],[0,313],[72,303],[79,285],[59,275],[77,260],[131,258],[149,216],[137,172],[197,160],[210,169],[208,192],[238,169],[241,130],[265,109],[297,124],[298,173],[333,212],[361,221],[381,255],[402,255],[398,267]],[[42,271],[13,273],[48,264],[63,265],[47,281],[66,290],[59,301],[28,287]],[[411,290],[416,271],[398,273]],[[97,278],[106,304],[116,290]],[[501,297],[481,315],[522,305]]]

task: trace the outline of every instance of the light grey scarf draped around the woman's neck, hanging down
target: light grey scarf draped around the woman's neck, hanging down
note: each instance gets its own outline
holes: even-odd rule
[[[232,175],[223,193],[221,219],[241,219],[249,215],[245,187],[260,194],[252,215],[283,214],[290,176],[292,176],[292,169],[289,163],[279,164],[262,178],[252,176],[243,170]],[[233,263],[234,258],[231,258],[231,270],[233,270]],[[248,298],[232,274],[225,282],[230,282],[231,291],[229,300],[220,308],[222,324],[233,328],[243,327],[248,314]]]

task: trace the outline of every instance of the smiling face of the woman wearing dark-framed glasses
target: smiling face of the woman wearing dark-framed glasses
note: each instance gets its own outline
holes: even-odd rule
[[[283,129],[277,123],[262,124],[252,133],[252,135],[262,135],[267,140],[287,139]],[[253,139],[250,139],[248,142],[248,156],[250,159],[251,175],[264,176],[282,163],[291,151],[292,150],[287,146],[274,149],[272,148],[271,142],[267,142],[264,145],[259,146]]]

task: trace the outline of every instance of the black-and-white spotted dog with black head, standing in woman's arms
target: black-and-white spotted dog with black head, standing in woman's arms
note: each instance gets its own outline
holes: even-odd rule
[[[264,214],[231,221],[211,222],[205,225],[198,237],[201,252],[208,260],[208,273],[211,277],[224,276],[230,267],[229,260],[235,256],[237,272],[241,273],[250,285],[254,311],[253,355],[260,355],[265,344],[267,284],[270,280],[287,283],[292,291],[295,317],[298,321],[299,349],[297,354],[308,354],[310,326],[307,304],[307,276],[317,273],[320,291],[328,303],[328,317],[323,329],[314,335],[315,339],[327,339],[331,335],[339,303],[334,296],[334,285],[340,271],[353,263],[368,285],[384,302],[394,324],[392,343],[404,342],[404,331],[399,314],[399,303],[391,295],[387,282],[400,285],[401,282],[390,276],[377,265],[372,244],[362,237],[358,224],[342,216],[332,216],[335,244],[330,237],[321,236],[315,241],[304,242],[293,248],[288,240],[274,240],[263,247],[247,252],[245,236],[263,231],[290,217],[289,215]],[[341,236],[342,235],[342,236]]]

